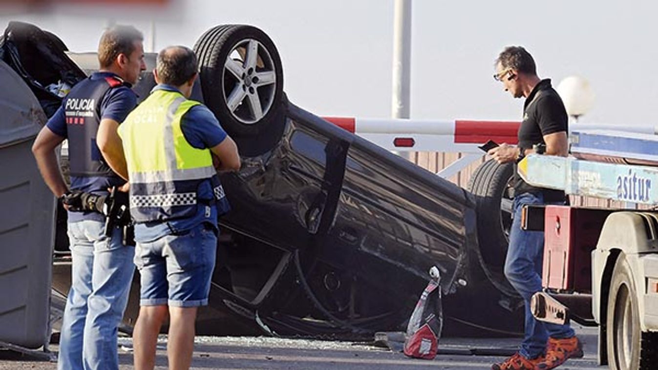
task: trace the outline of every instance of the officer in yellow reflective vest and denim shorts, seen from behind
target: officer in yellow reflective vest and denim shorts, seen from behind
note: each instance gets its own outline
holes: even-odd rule
[[[155,366],[167,315],[169,368],[189,369],[197,308],[208,304],[215,267],[217,217],[229,208],[216,170],[240,169],[240,156],[213,113],[188,100],[197,78],[193,51],[164,49],[153,73],[158,85],[118,129],[141,275],[135,369]]]

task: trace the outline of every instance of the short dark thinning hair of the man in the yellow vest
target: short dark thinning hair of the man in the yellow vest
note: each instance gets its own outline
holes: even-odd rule
[[[158,53],[155,69],[161,83],[180,86],[190,81],[197,71],[197,56],[190,48],[184,46],[170,46]]]

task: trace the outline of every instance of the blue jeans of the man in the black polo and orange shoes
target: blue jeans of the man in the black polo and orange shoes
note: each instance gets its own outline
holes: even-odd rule
[[[509,233],[509,247],[505,260],[505,276],[525,301],[525,336],[519,353],[525,358],[544,354],[548,336],[570,338],[570,325],[537,321],[530,311],[530,297],[542,290],[542,261],[544,232],[521,229],[521,208],[524,204],[545,204],[541,194],[522,193],[514,198],[514,220]]]

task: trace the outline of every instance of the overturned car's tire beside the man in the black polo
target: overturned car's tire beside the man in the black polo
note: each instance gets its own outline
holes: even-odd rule
[[[509,296],[519,296],[503,273],[513,216],[513,174],[513,164],[499,164],[490,159],[470,176],[467,190],[476,201],[482,268],[497,289]]]

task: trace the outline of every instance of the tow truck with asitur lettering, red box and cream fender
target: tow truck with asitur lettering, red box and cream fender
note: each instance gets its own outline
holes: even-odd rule
[[[535,317],[597,326],[599,365],[658,366],[658,135],[572,131],[568,157],[528,155],[520,176],[619,206],[529,206],[522,227],[544,231],[544,291]]]

